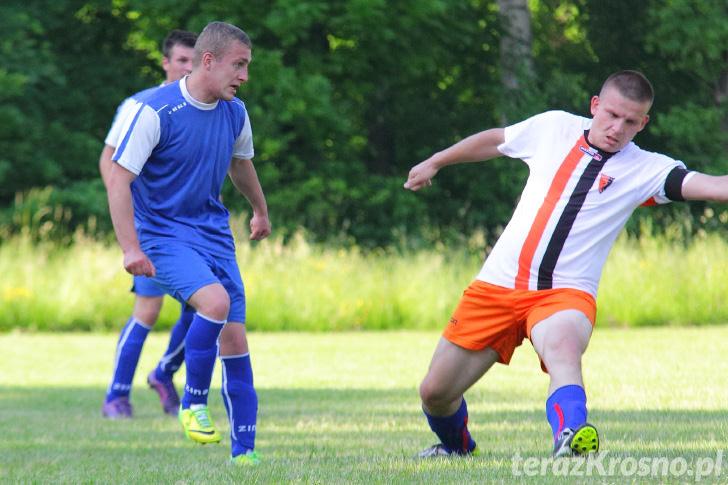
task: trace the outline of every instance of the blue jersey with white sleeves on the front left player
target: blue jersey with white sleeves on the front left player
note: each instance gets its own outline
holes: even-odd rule
[[[183,78],[141,96],[124,131],[113,160],[137,175],[131,192],[142,251],[174,239],[234,257],[220,192],[232,158],[253,157],[243,102],[201,103]]]

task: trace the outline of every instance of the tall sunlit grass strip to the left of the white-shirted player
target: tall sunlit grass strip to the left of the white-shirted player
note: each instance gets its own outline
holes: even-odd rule
[[[482,262],[457,251],[332,249],[300,235],[286,244],[241,238],[238,260],[250,327],[297,331],[437,328]],[[121,261],[118,247],[84,238],[67,248],[0,245],[0,331],[120,328],[133,302]],[[167,297],[160,327],[178,315]]]

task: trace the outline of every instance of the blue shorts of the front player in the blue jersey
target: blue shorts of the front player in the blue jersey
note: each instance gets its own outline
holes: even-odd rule
[[[230,296],[227,320],[245,323],[245,287],[235,258],[212,256],[179,243],[144,252],[156,268],[150,279],[166,293],[186,302],[200,288],[220,283]]]

